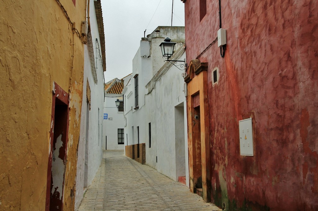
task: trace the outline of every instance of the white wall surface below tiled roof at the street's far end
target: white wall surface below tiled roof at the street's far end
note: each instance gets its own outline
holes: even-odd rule
[[[117,99],[122,100],[122,95],[105,94],[104,114],[107,114],[107,119],[103,119],[102,147],[107,150],[124,149],[126,144],[118,144],[118,129],[124,129],[124,134],[126,129],[124,128],[124,112],[118,112],[116,108],[115,101]]]

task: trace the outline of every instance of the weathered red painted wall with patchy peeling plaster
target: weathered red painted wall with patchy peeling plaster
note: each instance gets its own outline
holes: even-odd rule
[[[218,1],[185,2],[187,61],[216,37]],[[225,57],[208,62],[211,200],[227,210],[318,210],[318,1],[221,0]],[[212,71],[219,68],[218,84]],[[252,117],[254,156],[240,156]]]

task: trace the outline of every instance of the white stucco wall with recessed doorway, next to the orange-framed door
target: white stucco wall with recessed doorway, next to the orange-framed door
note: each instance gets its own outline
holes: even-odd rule
[[[180,57],[185,58],[185,53]],[[151,120],[151,148],[146,142],[146,163],[177,181],[186,176],[185,152],[187,151],[186,99],[184,96],[183,71],[169,67],[159,77],[146,96],[146,105]],[[183,115],[183,116],[180,116]],[[183,118],[182,118],[183,117]],[[183,122],[180,122],[180,120]],[[180,134],[181,133],[181,134]],[[149,138],[148,138],[149,140]],[[157,162],[156,162],[157,156]]]

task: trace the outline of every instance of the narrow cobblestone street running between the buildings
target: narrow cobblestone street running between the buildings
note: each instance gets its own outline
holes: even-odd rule
[[[180,182],[123,155],[103,151],[103,160],[78,211],[222,210],[206,203]]]

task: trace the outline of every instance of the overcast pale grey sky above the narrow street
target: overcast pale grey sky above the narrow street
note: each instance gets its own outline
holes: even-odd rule
[[[171,26],[172,0],[101,0],[101,6],[108,82],[132,72],[132,60],[144,30],[147,36],[157,26]],[[180,0],[174,0],[172,25],[184,26],[184,5]]]

